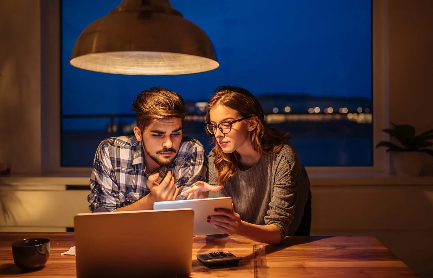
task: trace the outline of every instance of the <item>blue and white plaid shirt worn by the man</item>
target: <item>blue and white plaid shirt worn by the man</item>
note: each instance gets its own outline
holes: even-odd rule
[[[112,137],[102,141],[95,154],[87,197],[92,212],[113,211],[150,193],[142,144],[135,136]],[[177,200],[186,199],[181,192],[206,180],[207,157],[203,145],[183,136],[177,156],[168,166],[159,168],[159,176],[171,171],[179,189]]]

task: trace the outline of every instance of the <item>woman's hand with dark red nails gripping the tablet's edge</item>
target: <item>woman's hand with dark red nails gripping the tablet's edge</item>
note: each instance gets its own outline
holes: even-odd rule
[[[239,214],[234,212],[233,203],[232,210],[224,208],[216,208],[215,212],[223,215],[211,215],[207,217],[207,222],[209,222],[213,227],[222,231],[223,233],[228,233],[230,235],[237,234],[242,235],[242,221]]]

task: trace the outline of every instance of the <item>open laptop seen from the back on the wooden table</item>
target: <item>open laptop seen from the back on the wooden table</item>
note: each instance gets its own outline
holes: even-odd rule
[[[77,277],[187,277],[193,226],[191,209],[77,214]]]

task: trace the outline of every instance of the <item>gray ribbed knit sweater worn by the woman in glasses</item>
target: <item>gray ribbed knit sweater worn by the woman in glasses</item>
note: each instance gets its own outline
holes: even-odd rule
[[[207,179],[216,183],[215,153],[209,154]],[[230,196],[241,220],[257,225],[275,224],[281,237],[296,232],[308,200],[310,181],[296,148],[289,142],[275,154],[263,155],[251,168],[241,171],[209,198]]]

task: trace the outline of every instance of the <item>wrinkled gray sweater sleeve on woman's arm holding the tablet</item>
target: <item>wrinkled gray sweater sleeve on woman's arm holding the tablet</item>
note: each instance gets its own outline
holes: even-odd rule
[[[294,218],[301,163],[296,153],[288,151],[278,154],[272,164],[273,190],[265,224],[276,225],[284,238]]]

